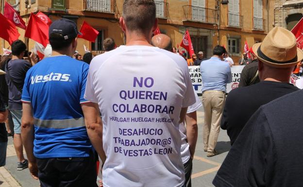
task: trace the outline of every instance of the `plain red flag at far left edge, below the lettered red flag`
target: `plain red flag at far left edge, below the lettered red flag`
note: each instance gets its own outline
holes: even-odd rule
[[[19,37],[16,25],[0,14],[0,37],[5,39],[9,44],[12,44]]]

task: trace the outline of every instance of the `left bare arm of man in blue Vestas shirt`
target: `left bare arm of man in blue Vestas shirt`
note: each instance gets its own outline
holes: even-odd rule
[[[34,117],[31,103],[23,102],[21,120],[22,144],[29,161],[29,170],[34,179],[38,179],[38,167],[34,156]]]

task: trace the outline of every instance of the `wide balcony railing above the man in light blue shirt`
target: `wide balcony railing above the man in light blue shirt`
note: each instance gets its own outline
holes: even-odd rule
[[[196,21],[202,23],[217,24],[217,10],[203,8],[199,6],[185,5],[184,20],[185,21]]]

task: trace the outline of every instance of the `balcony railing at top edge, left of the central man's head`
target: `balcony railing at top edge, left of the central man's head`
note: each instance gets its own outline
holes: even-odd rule
[[[116,0],[86,0],[86,9],[94,12],[115,13]]]

